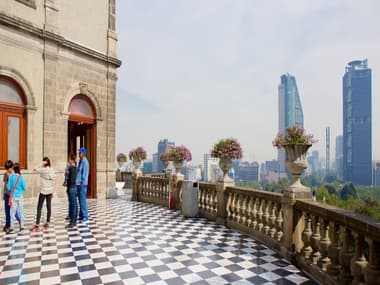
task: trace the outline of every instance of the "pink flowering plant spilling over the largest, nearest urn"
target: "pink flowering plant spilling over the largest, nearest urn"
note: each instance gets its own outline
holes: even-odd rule
[[[272,144],[274,147],[282,148],[285,145],[311,145],[316,142],[312,134],[306,134],[301,127],[292,126],[286,129],[286,135],[278,133]]]

